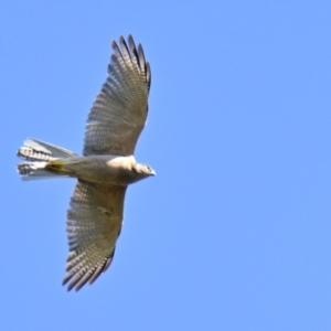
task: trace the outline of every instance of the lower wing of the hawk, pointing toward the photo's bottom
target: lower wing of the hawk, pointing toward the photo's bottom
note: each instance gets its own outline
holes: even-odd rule
[[[78,181],[67,212],[67,257],[63,285],[79,290],[109,267],[119,236],[126,186]]]

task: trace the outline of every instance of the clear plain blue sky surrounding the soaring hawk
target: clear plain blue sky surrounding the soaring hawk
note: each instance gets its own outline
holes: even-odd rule
[[[1,1],[1,330],[331,330],[330,1]],[[74,180],[22,182],[26,137],[83,148],[110,42],[151,64],[111,267],[61,286]]]

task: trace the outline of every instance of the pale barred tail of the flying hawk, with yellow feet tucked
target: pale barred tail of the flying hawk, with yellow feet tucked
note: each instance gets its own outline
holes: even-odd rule
[[[65,159],[77,157],[70,150],[36,139],[25,140],[18,156],[25,160],[18,164],[23,180],[68,177],[71,173],[63,169]]]

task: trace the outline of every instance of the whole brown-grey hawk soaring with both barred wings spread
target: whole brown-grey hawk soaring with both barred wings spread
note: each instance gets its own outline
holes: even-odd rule
[[[63,285],[79,290],[106,271],[119,236],[127,186],[156,172],[134,157],[148,114],[151,71],[131,35],[111,43],[108,76],[88,114],[83,156],[28,139],[18,151],[23,180],[76,178],[67,211],[70,254]]]

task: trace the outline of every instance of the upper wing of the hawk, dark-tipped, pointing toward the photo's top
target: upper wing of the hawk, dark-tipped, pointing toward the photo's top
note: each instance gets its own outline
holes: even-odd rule
[[[131,35],[111,46],[108,77],[87,119],[85,156],[132,154],[147,118],[151,72],[142,47]]]

